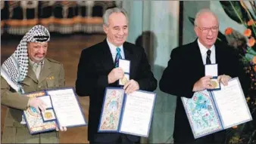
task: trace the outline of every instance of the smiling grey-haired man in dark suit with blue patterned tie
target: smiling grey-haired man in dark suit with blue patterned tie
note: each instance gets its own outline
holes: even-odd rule
[[[116,67],[117,58],[130,60],[130,81],[123,89],[125,93],[135,90],[153,91],[157,80],[151,72],[142,47],[126,42],[128,19],[122,8],[108,9],[104,16],[104,31],[107,38],[82,51],[77,69],[76,93],[89,96],[89,141],[90,143],[133,143],[139,136],[121,133],[97,133],[103,104],[105,87],[118,87],[117,80],[123,78],[123,70]]]

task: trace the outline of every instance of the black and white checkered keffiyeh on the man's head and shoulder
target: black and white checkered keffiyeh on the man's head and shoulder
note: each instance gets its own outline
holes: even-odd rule
[[[18,93],[24,93],[20,84],[27,76],[29,57],[27,42],[44,42],[50,40],[50,33],[41,25],[34,26],[27,32],[17,46],[17,50],[1,66],[1,75]]]

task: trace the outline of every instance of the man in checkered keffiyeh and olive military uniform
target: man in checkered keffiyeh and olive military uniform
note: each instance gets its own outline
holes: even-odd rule
[[[45,110],[45,103],[23,93],[64,87],[64,67],[46,58],[50,34],[44,26],[34,26],[1,66],[1,104],[8,106],[2,143],[58,143],[56,131],[31,135],[23,110]],[[67,130],[61,127],[61,130]]]

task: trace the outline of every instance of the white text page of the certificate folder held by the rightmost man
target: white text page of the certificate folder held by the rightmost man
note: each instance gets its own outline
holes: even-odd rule
[[[251,121],[251,113],[245,100],[245,95],[239,78],[233,78],[227,86],[221,84],[222,90],[212,92],[217,110],[224,129]]]

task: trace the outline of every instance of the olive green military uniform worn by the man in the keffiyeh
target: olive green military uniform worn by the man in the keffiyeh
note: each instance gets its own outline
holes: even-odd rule
[[[30,65],[23,80],[25,93],[64,87],[64,67],[55,60],[45,58],[39,78]],[[20,96],[4,78],[1,78],[1,104],[8,106],[2,143],[58,143],[58,132],[52,131],[31,135],[26,124],[20,124],[22,112],[27,109],[28,97]]]

